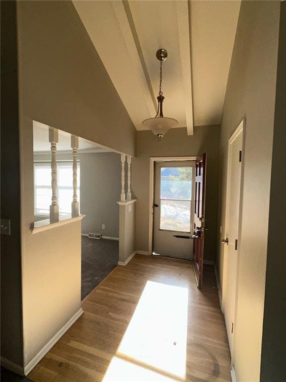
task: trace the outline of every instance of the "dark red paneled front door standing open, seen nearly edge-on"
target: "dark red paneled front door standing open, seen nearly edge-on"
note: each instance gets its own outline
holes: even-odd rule
[[[199,288],[203,286],[205,195],[207,155],[196,161],[195,169],[195,216],[194,216],[194,269]]]

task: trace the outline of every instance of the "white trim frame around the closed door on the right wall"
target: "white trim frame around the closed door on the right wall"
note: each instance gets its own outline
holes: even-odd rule
[[[236,321],[236,311],[237,311],[237,286],[238,286],[238,269],[239,269],[239,259],[240,259],[240,244],[241,244],[241,216],[242,216],[242,200],[243,200],[243,180],[244,180],[244,157],[245,157],[245,118],[239,123],[233,134],[228,140],[227,144],[227,181],[226,181],[226,197],[225,197],[225,217],[224,217],[224,230],[223,238],[226,235],[226,224],[229,217],[229,192],[230,192],[230,145],[235,140],[235,138],[242,132],[242,156],[241,156],[241,173],[240,173],[240,195],[239,195],[239,215],[238,215],[238,247],[237,247],[237,265],[236,265],[236,276],[235,276],[235,301],[234,301],[234,321]],[[222,245],[220,243],[220,245]],[[227,275],[227,247],[224,245],[223,248],[223,276],[222,276],[222,290],[221,290],[221,310],[224,313],[225,307],[225,287],[226,287],[226,275]],[[235,322],[234,322],[235,330]],[[234,341],[232,341],[233,344]],[[232,350],[230,349],[231,358]],[[231,364],[232,365],[232,364]]]

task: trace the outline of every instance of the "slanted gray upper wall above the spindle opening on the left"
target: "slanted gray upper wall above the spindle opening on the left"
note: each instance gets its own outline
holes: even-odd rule
[[[71,1],[18,1],[23,116],[135,155],[136,130]]]

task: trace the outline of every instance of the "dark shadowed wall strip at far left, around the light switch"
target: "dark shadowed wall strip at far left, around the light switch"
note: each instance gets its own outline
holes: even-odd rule
[[[1,1],[1,357],[23,365],[16,3]]]

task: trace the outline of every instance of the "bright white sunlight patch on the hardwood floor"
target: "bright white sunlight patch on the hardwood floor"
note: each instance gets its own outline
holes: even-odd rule
[[[143,376],[146,368],[149,377],[144,381],[153,381],[156,372],[164,375],[162,381],[170,377],[184,380],[187,318],[187,288],[148,281],[116,352],[118,357],[114,357],[106,374],[106,378],[112,375],[116,379],[104,381],[130,381],[127,369]],[[157,377],[155,380],[161,381]]]

